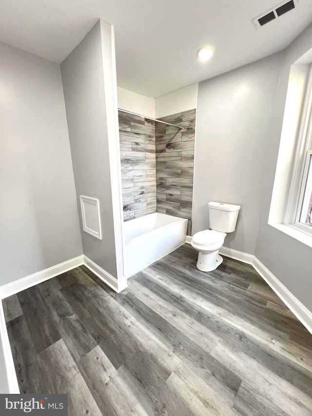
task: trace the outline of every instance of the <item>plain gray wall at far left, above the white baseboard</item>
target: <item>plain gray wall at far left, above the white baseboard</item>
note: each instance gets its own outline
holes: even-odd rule
[[[0,285],[82,254],[59,65],[0,43]]]

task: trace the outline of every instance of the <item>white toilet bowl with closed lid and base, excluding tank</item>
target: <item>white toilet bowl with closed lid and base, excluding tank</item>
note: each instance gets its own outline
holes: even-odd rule
[[[218,252],[226,235],[226,233],[215,230],[204,230],[194,234],[191,245],[199,252],[197,269],[202,272],[211,272],[222,263],[223,258]]]

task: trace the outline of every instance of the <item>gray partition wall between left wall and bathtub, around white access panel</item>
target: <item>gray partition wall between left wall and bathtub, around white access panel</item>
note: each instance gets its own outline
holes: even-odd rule
[[[112,59],[112,51],[107,49],[107,44],[111,44],[110,36],[110,25],[98,21],[63,61],[61,73],[79,214],[79,195],[98,198],[100,203],[102,240],[82,230],[79,215],[83,253],[110,275],[120,277],[123,275],[122,206],[121,199],[117,202],[113,199],[111,186],[111,181],[115,180],[112,169],[116,169],[115,176],[118,176],[120,161],[119,155],[118,160],[110,160],[108,122],[111,119],[107,114],[112,109],[105,95],[105,88],[106,92],[110,91],[113,84],[111,79],[107,83],[105,81],[105,77],[110,77],[107,69]],[[117,145],[117,133],[114,140]],[[120,224],[116,224],[113,206],[115,214],[119,209]],[[116,226],[119,226],[118,235]]]

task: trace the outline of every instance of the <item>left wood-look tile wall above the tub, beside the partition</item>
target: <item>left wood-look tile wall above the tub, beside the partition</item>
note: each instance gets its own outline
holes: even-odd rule
[[[156,212],[155,121],[118,111],[124,221]]]

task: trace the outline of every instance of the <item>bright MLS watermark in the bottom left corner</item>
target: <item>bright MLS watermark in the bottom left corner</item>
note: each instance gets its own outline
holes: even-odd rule
[[[1,416],[67,416],[67,395],[0,395]]]

